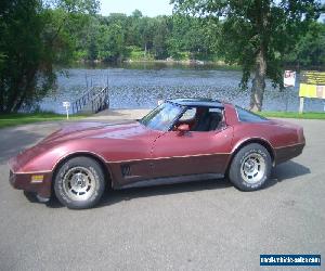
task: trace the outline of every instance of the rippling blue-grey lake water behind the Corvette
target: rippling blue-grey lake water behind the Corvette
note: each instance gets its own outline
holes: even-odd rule
[[[63,101],[75,101],[86,86],[105,86],[108,77],[110,108],[151,108],[157,100],[168,98],[212,98],[243,107],[249,105],[249,91],[238,88],[242,73],[220,66],[184,66],[167,64],[122,64],[121,66],[75,67],[60,74],[57,87],[40,107],[64,113]],[[297,81],[299,81],[299,76]],[[299,107],[296,88],[280,92],[266,81],[264,111],[291,111]],[[322,100],[306,99],[306,111],[323,112]]]

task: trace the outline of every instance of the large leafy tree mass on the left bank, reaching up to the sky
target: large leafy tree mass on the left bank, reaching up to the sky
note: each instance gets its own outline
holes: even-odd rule
[[[4,0],[0,5],[0,114],[30,107],[55,80],[53,65],[72,57],[80,15],[92,0]],[[79,24],[75,24],[76,21]]]

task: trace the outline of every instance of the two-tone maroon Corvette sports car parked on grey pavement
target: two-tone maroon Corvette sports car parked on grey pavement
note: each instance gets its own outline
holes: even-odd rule
[[[123,189],[227,176],[242,191],[261,189],[272,167],[301,154],[303,130],[230,103],[169,100],[140,120],[63,128],[10,160],[10,182],[69,208]]]

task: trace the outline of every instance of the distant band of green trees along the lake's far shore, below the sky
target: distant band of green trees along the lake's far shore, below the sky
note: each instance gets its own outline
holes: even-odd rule
[[[216,55],[219,25],[207,25],[206,21],[180,15],[146,17],[140,11],[134,11],[131,16],[92,16],[91,23],[80,35],[78,55],[90,61],[134,60],[128,48],[136,47],[142,50],[142,60],[152,55],[157,60],[169,56],[176,60],[209,60]],[[108,39],[114,42],[107,42]]]

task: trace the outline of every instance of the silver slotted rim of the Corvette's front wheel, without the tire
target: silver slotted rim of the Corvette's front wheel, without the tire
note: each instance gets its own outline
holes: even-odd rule
[[[72,201],[87,201],[96,188],[96,180],[86,167],[70,168],[63,178],[63,189]]]

